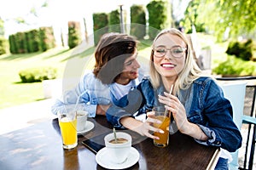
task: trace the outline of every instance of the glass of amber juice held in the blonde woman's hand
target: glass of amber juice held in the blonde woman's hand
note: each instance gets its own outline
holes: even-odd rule
[[[166,111],[164,106],[157,106],[153,108],[154,118],[161,121],[161,123],[154,123],[153,126],[160,128],[165,133],[154,132],[154,136],[159,139],[154,139],[154,145],[158,147],[166,147],[169,143],[169,125],[171,122],[171,113]]]

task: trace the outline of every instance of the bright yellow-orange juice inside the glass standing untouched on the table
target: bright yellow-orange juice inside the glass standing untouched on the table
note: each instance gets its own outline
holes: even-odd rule
[[[64,145],[77,144],[77,119],[70,121],[67,117],[62,117],[59,122],[61,127],[61,137]]]

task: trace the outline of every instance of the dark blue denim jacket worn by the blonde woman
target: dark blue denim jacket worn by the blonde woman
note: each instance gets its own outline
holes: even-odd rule
[[[129,105],[121,109],[112,105],[107,111],[107,119],[115,127],[122,127],[119,122],[121,117],[132,116],[137,109],[138,114],[146,114],[154,105],[160,105],[158,94],[163,94],[165,88],[157,90],[151,85],[148,78],[128,94]],[[201,127],[207,134],[207,141],[196,142],[206,145],[219,146],[230,152],[241,147],[241,133],[232,119],[232,106],[224,98],[222,88],[210,77],[196,79],[188,89],[179,91],[177,98],[183,104],[189,122]]]

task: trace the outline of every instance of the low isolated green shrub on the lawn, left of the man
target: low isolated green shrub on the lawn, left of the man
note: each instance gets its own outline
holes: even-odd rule
[[[42,82],[43,80],[55,79],[57,70],[52,67],[31,68],[19,72],[21,82]]]

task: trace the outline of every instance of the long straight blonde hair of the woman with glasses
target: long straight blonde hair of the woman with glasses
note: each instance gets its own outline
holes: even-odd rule
[[[166,29],[163,31],[160,31],[160,33],[154,38],[153,46],[152,46],[152,51],[150,55],[150,77],[151,77],[151,83],[153,87],[159,88],[160,87],[160,82],[161,81],[161,76],[158,71],[155,70],[154,68],[154,43],[155,41],[165,35],[165,34],[172,34],[177,37],[180,37],[183,42],[186,43],[187,45],[187,53],[186,53],[186,59],[185,59],[185,65],[183,70],[177,75],[177,80],[175,82],[174,88],[173,88],[173,93],[172,94],[177,94],[179,89],[187,89],[189,86],[192,84],[192,82],[195,81],[198,77],[201,76],[201,70],[196,65],[195,59],[193,58],[191,46],[189,43],[189,40],[187,37],[183,34],[183,32],[178,31],[176,28],[170,28]]]

